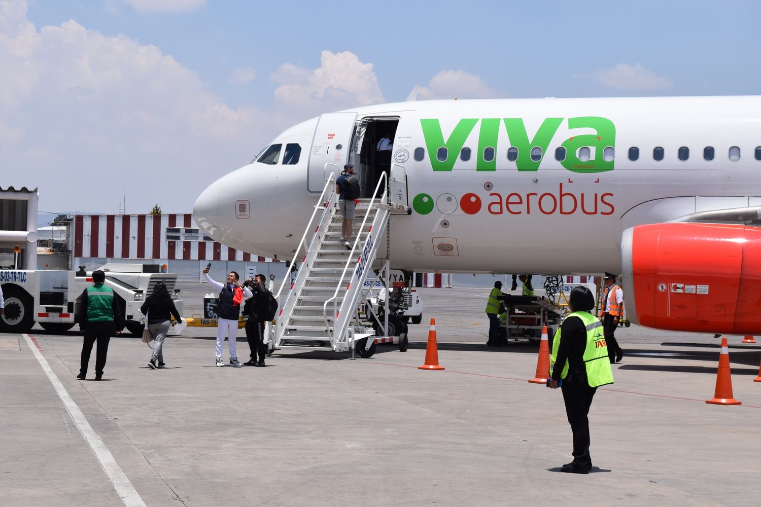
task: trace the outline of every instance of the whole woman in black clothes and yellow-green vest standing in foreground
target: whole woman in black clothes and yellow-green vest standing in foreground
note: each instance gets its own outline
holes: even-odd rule
[[[565,317],[552,338],[549,358],[549,387],[562,388],[565,414],[573,433],[573,461],[561,471],[588,474],[592,467],[589,455],[589,407],[600,385],[613,384],[613,372],[600,319],[590,312],[594,296],[587,287],[574,287],[568,298]]]

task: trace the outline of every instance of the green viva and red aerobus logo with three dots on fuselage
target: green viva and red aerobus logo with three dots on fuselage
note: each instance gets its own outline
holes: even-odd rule
[[[460,119],[457,126],[452,131],[449,138],[444,141],[444,135],[441,132],[441,125],[438,119],[421,119],[420,123],[425,137],[425,146],[428,149],[428,157],[431,161],[431,168],[435,172],[449,172],[454,169],[454,164],[459,160],[458,154],[465,146],[467,138],[473,132],[473,128],[480,121],[478,151],[476,151],[476,171],[489,172],[497,170],[497,157],[486,160],[484,153],[486,148],[491,147],[497,151],[499,130],[504,125],[510,140],[511,147],[517,148],[517,158],[514,159],[516,169],[520,172],[535,172],[544,159],[550,141],[556,135],[560,127],[562,118],[546,118],[537,130],[533,138],[529,139],[526,126],[521,118],[466,118]],[[584,132],[589,129],[594,130],[595,134],[578,134],[572,135],[562,142],[561,146],[565,148],[565,158],[559,163],[569,171],[574,173],[603,173],[613,170],[613,159],[605,160],[604,150],[606,147],[614,147],[616,144],[616,125],[610,119],[600,116],[579,116],[568,119],[568,129],[583,128]],[[447,157],[441,157],[444,160],[438,160],[440,148],[447,149]],[[531,153],[532,148],[540,147],[542,155],[534,157]],[[581,148],[587,147],[589,154],[594,153],[594,158],[589,160],[580,160]],[[452,154],[452,156],[449,156]],[[492,190],[489,188],[488,190]],[[444,214],[454,212],[454,206],[459,204],[459,208],[465,214],[476,214],[486,207],[489,214],[562,214],[570,215],[583,213],[587,215],[610,215],[613,214],[613,207],[610,198],[613,194],[604,192],[592,194],[587,192],[575,193],[570,191],[566,186],[560,183],[558,189],[553,192],[510,192],[502,195],[498,192],[489,193],[488,202],[473,192],[467,192],[455,197],[451,194],[442,194],[436,200],[431,195],[422,193],[412,199],[412,208],[418,214],[429,214],[437,206]],[[441,203],[441,206],[439,206]]]

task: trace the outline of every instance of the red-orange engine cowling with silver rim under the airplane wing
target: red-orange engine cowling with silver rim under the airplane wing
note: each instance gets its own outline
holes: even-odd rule
[[[672,331],[761,334],[761,228],[654,223],[622,236],[626,315]]]

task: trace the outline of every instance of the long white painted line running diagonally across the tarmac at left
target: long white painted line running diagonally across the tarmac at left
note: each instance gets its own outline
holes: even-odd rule
[[[97,433],[94,432],[92,426],[88,423],[88,420],[84,418],[84,414],[79,410],[79,407],[75,404],[74,400],[72,400],[72,397],[68,395],[68,392],[66,392],[61,381],[56,374],[53,373],[53,369],[50,369],[50,365],[40,353],[40,350],[37,350],[37,347],[33,344],[29,335],[23,334],[22,336],[24,336],[24,340],[27,341],[27,345],[32,350],[34,356],[37,357],[40,366],[43,367],[43,371],[47,375],[50,383],[53,384],[53,388],[56,388],[58,397],[61,398],[63,406],[66,407],[68,415],[72,417],[72,420],[79,429],[79,433],[81,433],[84,440],[88,442],[90,448],[95,453],[95,457],[100,462],[100,466],[103,467],[103,471],[106,472],[111,483],[113,483],[113,489],[116,490],[116,494],[119,495],[119,498],[122,499],[122,502],[124,502],[126,507],[146,507],[145,502],[142,501],[137,490],[135,490],[135,486],[132,486],[132,483],[129,482],[129,479],[127,479],[127,476],[122,469],[116,464],[116,460],[113,459],[113,455],[111,455],[106,444],[103,443],[100,436],[97,436]]]

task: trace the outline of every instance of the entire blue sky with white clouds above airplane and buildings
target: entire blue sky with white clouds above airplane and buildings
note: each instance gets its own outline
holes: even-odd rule
[[[188,213],[279,132],[419,99],[759,94],[761,2],[0,0],[0,187]]]

